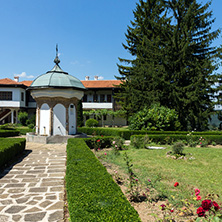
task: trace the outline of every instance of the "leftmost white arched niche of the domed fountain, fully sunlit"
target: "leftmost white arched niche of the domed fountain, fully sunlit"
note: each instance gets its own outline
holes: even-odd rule
[[[42,104],[38,118],[40,118],[40,135],[49,135],[50,109],[47,103]]]

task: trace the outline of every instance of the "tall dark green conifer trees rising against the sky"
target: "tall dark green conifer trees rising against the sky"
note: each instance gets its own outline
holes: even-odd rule
[[[124,48],[132,59],[119,59],[117,79],[127,117],[154,103],[175,109],[183,130],[205,130],[213,112],[210,96],[221,47],[212,47],[220,30],[210,3],[196,0],[139,0]],[[125,63],[125,64],[123,64]],[[210,95],[211,94],[211,95]]]

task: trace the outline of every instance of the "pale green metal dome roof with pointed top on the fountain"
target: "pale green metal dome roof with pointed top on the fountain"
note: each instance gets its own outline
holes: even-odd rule
[[[81,81],[74,76],[64,72],[59,66],[59,58],[56,55],[54,60],[56,63],[51,71],[37,77],[29,87],[30,89],[35,88],[76,88],[85,90],[85,87]]]

